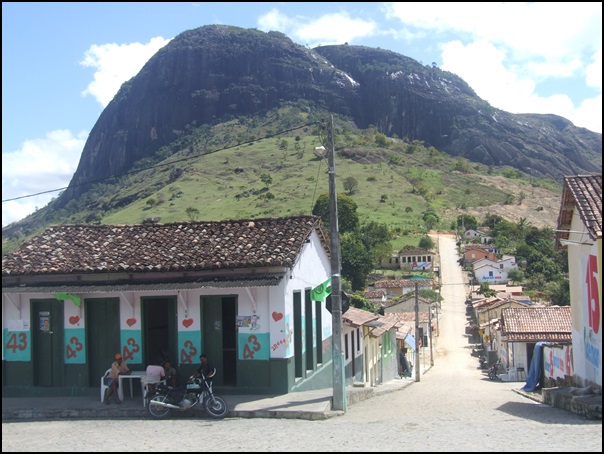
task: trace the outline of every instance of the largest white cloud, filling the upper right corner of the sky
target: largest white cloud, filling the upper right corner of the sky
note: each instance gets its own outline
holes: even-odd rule
[[[396,2],[387,15],[400,20],[408,39],[434,33],[442,69],[494,107],[561,115],[602,132],[601,3]],[[600,93],[576,94],[577,78]],[[540,94],[541,83],[565,79],[567,92]]]

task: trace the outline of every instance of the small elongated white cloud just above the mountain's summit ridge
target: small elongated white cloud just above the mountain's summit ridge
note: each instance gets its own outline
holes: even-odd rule
[[[353,19],[347,12],[325,14],[318,18],[290,18],[272,9],[258,19],[258,28],[276,30],[309,47],[344,44],[372,36],[377,24],[370,20]]]

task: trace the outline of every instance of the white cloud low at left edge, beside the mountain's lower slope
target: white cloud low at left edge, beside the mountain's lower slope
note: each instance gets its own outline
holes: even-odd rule
[[[64,188],[75,172],[86,132],[53,131],[43,139],[28,140],[21,149],[2,154],[2,199],[12,199]],[[2,203],[2,226],[42,208],[58,191]]]

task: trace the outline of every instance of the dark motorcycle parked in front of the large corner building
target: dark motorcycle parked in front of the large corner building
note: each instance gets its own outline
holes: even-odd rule
[[[158,384],[147,393],[147,410],[156,419],[168,417],[173,411],[185,411],[201,403],[205,412],[214,419],[222,419],[227,415],[227,404],[222,397],[212,391],[214,369],[208,376],[200,374],[191,376],[185,386],[173,387]]]

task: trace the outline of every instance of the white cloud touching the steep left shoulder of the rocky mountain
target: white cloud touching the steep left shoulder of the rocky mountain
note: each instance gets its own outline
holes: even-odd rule
[[[169,42],[169,39],[158,36],[147,44],[93,44],[84,53],[81,65],[95,68],[94,80],[82,94],[94,96],[106,107],[122,84],[138,74],[145,63]]]

